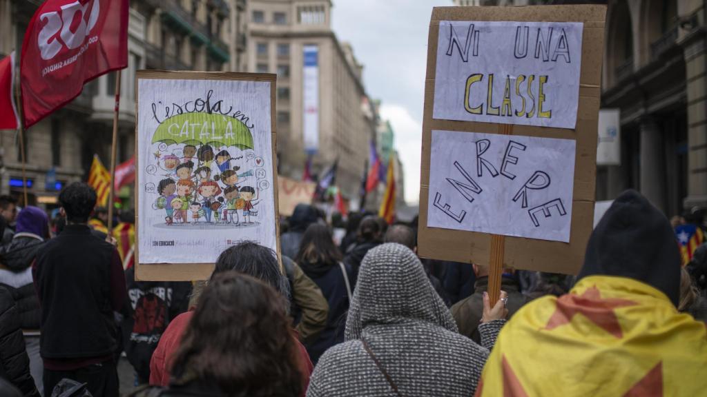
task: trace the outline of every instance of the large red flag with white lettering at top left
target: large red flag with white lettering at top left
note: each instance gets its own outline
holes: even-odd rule
[[[127,67],[128,0],[47,0],[30,20],[20,77],[25,127]]]

